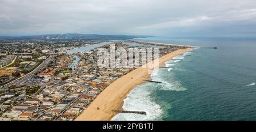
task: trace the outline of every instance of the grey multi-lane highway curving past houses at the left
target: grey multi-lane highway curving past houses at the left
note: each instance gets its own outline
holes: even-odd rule
[[[26,80],[32,78],[32,76],[34,76],[38,71],[42,71],[44,68],[46,68],[46,66],[48,65],[49,62],[51,62],[53,60],[55,56],[49,56],[46,60],[44,60],[38,67],[36,67],[33,71],[31,71],[30,73],[21,76],[20,78],[17,78],[15,80],[13,80],[10,83],[5,84],[4,86],[2,86],[0,89],[1,90],[6,90],[7,88],[13,86],[13,85],[20,85],[24,82],[26,82]]]

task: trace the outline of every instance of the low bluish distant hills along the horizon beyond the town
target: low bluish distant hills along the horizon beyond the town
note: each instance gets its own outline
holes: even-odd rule
[[[145,38],[154,37],[146,35],[96,35],[96,34],[80,34],[80,33],[66,33],[66,34],[49,34],[49,35],[33,35],[33,36],[3,36],[0,40],[31,40],[31,39],[42,39],[42,40],[68,40],[68,39],[85,39],[85,40],[126,40],[134,38]]]

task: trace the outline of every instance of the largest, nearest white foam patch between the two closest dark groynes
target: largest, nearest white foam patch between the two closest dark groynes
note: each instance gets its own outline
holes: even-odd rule
[[[137,110],[144,111],[147,114],[133,114],[133,113],[118,113],[112,118],[113,121],[117,120],[160,120],[160,116],[163,113],[159,104],[156,104],[150,97],[150,94],[154,91],[154,87],[151,87],[152,83],[144,83],[132,90],[129,95],[124,99],[123,109],[125,110]]]

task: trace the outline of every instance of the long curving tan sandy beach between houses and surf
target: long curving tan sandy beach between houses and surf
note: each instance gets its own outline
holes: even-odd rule
[[[160,57],[158,59],[159,66],[163,66],[164,62],[179,54],[188,52],[191,49],[192,48],[179,49]],[[149,62],[146,65],[154,65],[155,62],[157,61]],[[121,78],[118,78],[102,91],[94,101],[92,101],[92,104],[90,104],[89,107],[76,118],[76,121],[111,120],[116,114],[112,110],[117,110],[122,107],[123,99],[125,99],[126,95],[133,90],[134,87],[144,83],[144,80],[148,79],[153,70],[153,66],[148,66],[146,68],[139,67]],[[97,107],[100,109],[97,109]]]

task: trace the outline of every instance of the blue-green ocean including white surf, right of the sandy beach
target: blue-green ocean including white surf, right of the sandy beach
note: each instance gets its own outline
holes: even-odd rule
[[[136,39],[197,46],[174,69],[155,69],[152,80],[135,87],[112,120],[256,120],[256,38],[152,37]],[[205,49],[214,47],[218,49]],[[201,48],[200,48],[201,47]]]

